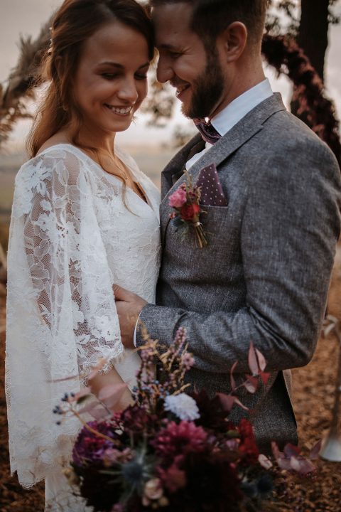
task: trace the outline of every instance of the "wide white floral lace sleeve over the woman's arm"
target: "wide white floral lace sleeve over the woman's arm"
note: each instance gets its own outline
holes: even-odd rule
[[[53,407],[80,389],[99,358],[124,350],[94,193],[85,164],[60,149],[29,161],[16,178],[6,398],[11,472],[26,487],[69,457],[79,430],[77,420],[55,425]]]

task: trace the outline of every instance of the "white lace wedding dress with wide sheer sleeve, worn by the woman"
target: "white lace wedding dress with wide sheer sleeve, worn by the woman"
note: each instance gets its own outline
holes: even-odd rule
[[[134,160],[116,150],[148,204],[130,188],[122,199],[121,181],[70,144],[46,149],[16,176],[6,398],[11,472],[25,487],[53,481],[70,459],[80,424],[73,418],[58,426],[52,412],[65,391],[77,393],[99,358],[124,351],[112,284],[155,301],[159,193]],[[129,380],[138,368],[134,354],[117,369]],[[77,378],[63,381],[72,375]]]

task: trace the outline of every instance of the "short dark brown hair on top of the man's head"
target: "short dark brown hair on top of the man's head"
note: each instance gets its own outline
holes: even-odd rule
[[[193,18],[190,28],[202,41],[212,44],[234,21],[247,27],[249,42],[259,44],[264,33],[268,0],[150,0],[151,7],[166,4],[190,4]]]

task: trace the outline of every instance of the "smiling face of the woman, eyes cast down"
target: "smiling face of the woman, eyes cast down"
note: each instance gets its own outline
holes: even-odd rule
[[[134,29],[113,21],[82,48],[73,95],[87,130],[123,132],[147,94],[148,44]]]

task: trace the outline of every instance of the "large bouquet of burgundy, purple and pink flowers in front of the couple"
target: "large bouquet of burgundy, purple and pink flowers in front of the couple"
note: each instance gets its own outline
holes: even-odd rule
[[[244,407],[236,395],[236,364],[229,395],[184,393],[193,357],[185,330],[179,329],[169,348],[146,341],[134,405],[112,412],[126,385],[103,388],[98,400],[89,390],[65,395],[63,405],[55,408],[60,420],[69,414],[82,420],[85,413],[94,418],[82,420],[65,470],[87,505],[95,512],[278,510],[274,501],[288,495],[282,469],[311,474],[313,464],[296,447],[288,445],[280,452],[276,444],[273,464],[259,453],[248,420],[239,425],[229,421],[234,404]],[[269,378],[265,366],[251,345],[251,375],[241,386],[255,393],[259,382]]]

